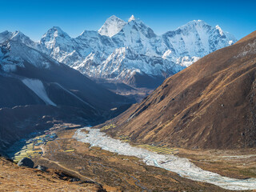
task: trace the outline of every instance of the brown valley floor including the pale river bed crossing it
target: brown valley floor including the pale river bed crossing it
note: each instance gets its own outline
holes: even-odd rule
[[[217,180],[213,180],[215,185],[233,190],[254,189],[253,178],[256,179],[254,150],[241,150],[241,152],[233,150],[232,152],[232,150],[167,149],[130,143],[126,136],[120,137],[120,141],[114,140],[106,138],[105,134],[97,129],[79,127],[80,125],[75,124],[56,124],[50,129],[51,132],[46,131],[51,135],[55,133],[56,137],[40,145],[42,156],[30,156],[35,163],[34,166],[46,166],[49,169],[64,171],[82,181],[100,183],[107,191],[225,191],[225,189],[216,188],[217,186],[206,184],[211,178],[207,178],[206,175],[199,176],[204,173],[204,170],[238,178],[238,180],[230,180],[230,178],[218,176],[222,184],[218,183],[216,178]],[[114,127],[114,124],[110,124],[103,126],[101,130]],[[42,137],[38,135],[36,138],[42,139]],[[30,138],[30,141],[35,140]],[[134,150],[130,147],[134,147]],[[232,153],[238,158],[233,157]],[[170,154],[175,156],[168,156]],[[189,158],[190,162],[196,166],[179,157]],[[226,161],[223,161],[225,158]],[[173,171],[178,174],[174,174]],[[207,174],[211,175],[210,177],[217,175],[210,172]],[[188,178],[195,181],[187,180]],[[233,182],[229,184],[228,181]]]

